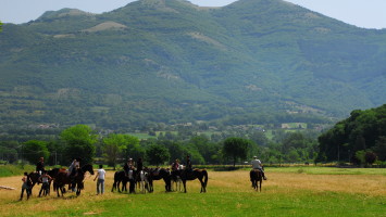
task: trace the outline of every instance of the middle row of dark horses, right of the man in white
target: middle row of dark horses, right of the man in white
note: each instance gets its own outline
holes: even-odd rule
[[[119,192],[127,192],[127,183],[135,184],[139,188],[142,193],[148,191],[149,193],[153,192],[153,181],[163,180],[165,183],[165,191],[171,192],[173,190],[182,191],[180,183],[184,186],[184,192],[186,193],[186,181],[198,179],[201,183],[201,193],[207,192],[208,184],[208,171],[206,169],[177,169],[171,171],[165,168],[145,168],[140,171],[133,171],[132,174],[126,175],[124,170],[115,171],[114,174],[114,183],[111,189],[111,192],[117,190]],[[173,189],[172,183],[175,183],[175,189]],[[120,187],[122,184],[122,187]],[[133,189],[135,189],[135,187]],[[129,190],[130,193],[132,190]]]

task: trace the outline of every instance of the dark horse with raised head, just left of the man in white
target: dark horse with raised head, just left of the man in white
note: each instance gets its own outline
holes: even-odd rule
[[[60,196],[59,190],[62,192],[62,196],[63,196],[63,192],[65,191],[64,190],[65,184],[72,184],[73,188],[76,187],[76,195],[77,196],[80,195],[80,190],[84,189],[83,182],[85,179],[86,171],[94,175],[92,165],[87,164],[83,166],[80,169],[77,169],[77,175],[75,175],[73,178],[69,176],[67,170],[60,169],[53,181],[53,186],[58,192],[58,197]]]

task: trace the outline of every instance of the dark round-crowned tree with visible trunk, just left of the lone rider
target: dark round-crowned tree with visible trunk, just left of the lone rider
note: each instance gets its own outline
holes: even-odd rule
[[[233,159],[233,165],[235,166],[238,158],[247,158],[248,145],[250,142],[250,140],[242,138],[227,138],[224,141],[223,153],[226,157]]]

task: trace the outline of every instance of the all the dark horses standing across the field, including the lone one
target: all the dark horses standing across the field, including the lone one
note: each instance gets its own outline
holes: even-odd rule
[[[48,170],[47,174],[53,179],[53,190],[57,191],[58,196],[63,196],[65,193],[65,186],[69,184],[70,189],[76,189],[76,195],[80,195],[80,191],[84,189],[84,180],[86,177],[86,173],[94,175],[92,166],[87,164],[79,168],[75,176],[69,176],[69,171],[64,168],[53,168]],[[177,169],[171,171],[165,168],[145,168],[141,171],[132,171],[132,177],[126,176],[124,170],[115,171],[114,174],[114,183],[111,189],[113,192],[117,190],[119,192],[127,191],[127,183],[135,184],[134,189],[140,189],[142,193],[153,192],[153,181],[163,180],[165,183],[165,191],[182,191],[180,183],[184,186],[184,192],[186,193],[186,181],[198,179],[201,183],[200,193],[207,192],[208,184],[208,171],[206,169]],[[252,169],[249,173],[250,181],[252,182],[252,188],[261,191],[261,184],[263,180],[262,173],[259,169]],[[37,173],[29,174],[32,180],[32,187],[34,188],[36,183],[39,183],[40,175]],[[175,183],[175,189],[173,188]],[[50,182],[51,184],[51,182]],[[120,186],[122,187],[120,188]],[[48,191],[45,194],[49,194],[50,186],[48,187]],[[135,191],[134,191],[135,192]],[[61,193],[61,194],[60,194]],[[130,192],[133,193],[133,192]]]

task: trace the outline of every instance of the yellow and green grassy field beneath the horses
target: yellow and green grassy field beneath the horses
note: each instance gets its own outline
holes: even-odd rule
[[[302,170],[300,170],[302,169]],[[386,169],[320,167],[266,168],[262,192],[250,187],[248,170],[209,171],[208,192],[199,181],[187,183],[188,193],[165,193],[155,181],[147,194],[111,193],[113,171],[108,171],[107,192],[96,195],[87,177],[76,197],[17,201],[21,177],[0,178],[0,216],[386,216]]]

